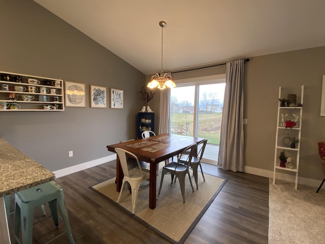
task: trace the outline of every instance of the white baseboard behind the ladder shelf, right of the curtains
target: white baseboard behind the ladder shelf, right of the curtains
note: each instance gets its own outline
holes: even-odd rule
[[[249,174],[264,176],[264,177],[268,177],[268,178],[273,178],[273,171],[270,171],[270,170],[258,169],[258,168],[245,166],[244,172],[249,173]],[[285,181],[289,181],[289,182],[295,182],[295,175],[280,173],[277,171],[275,176],[276,176],[276,178],[275,178],[276,180],[281,179],[281,180],[285,180]],[[302,185],[306,185],[306,186],[310,186],[310,187],[319,187],[320,183],[321,183],[321,180],[299,177],[299,175],[298,175],[298,185],[302,184]]]

